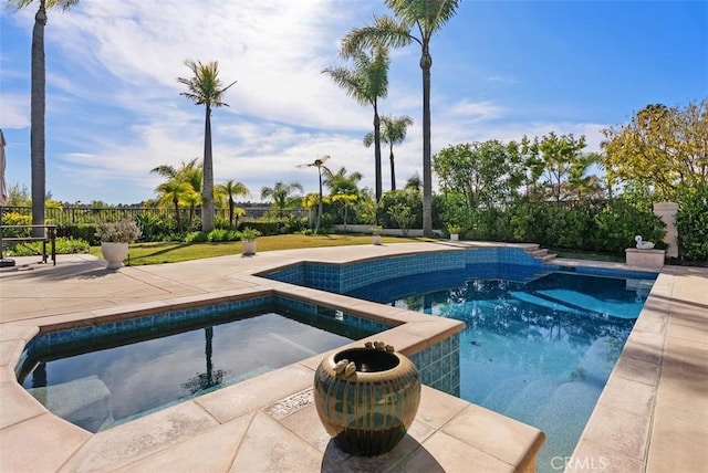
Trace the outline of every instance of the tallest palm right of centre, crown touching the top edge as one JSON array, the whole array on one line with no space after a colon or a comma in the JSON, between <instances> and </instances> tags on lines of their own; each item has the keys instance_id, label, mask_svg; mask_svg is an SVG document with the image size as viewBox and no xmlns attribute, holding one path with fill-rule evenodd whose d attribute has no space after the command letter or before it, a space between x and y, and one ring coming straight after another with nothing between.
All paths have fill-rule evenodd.
<instances>
[{"instance_id":1,"label":"tallest palm right of centre, crown touching the top edge","mask_svg":"<svg viewBox=\"0 0 708 473\"><path fill-rule=\"evenodd\" d=\"M341 54L357 54L362 48L385 44L402 48L420 45L423 71L423 233L433 236L433 167L430 156L430 39L457 11L460 0L386 0L395 18L375 17L374 25L355 28L342 40ZM418 33L418 35L416 35Z\"/></svg>"}]
</instances>

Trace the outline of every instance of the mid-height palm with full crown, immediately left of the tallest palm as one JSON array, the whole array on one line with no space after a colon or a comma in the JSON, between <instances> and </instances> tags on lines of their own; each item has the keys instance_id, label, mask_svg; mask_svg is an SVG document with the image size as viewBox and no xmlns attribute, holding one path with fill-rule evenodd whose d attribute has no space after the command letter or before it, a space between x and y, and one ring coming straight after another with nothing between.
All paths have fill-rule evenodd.
<instances>
[{"instance_id":1,"label":"mid-height palm with full crown, immediately left of the tallest palm","mask_svg":"<svg viewBox=\"0 0 708 473\"><path fill-rule=\"evenodd\" d=\"M374 107L374 166L376 167L376 201L378 201L382 196L378 99L388 95L388 64L391 64L391 60L388 59L388 50L381 44L371 46L371 55L360 49L353 51L348 57L354 61L354 69L327 67L322 72L329 74L336 85L361 105Z\"/></svg>"}]
</instances>

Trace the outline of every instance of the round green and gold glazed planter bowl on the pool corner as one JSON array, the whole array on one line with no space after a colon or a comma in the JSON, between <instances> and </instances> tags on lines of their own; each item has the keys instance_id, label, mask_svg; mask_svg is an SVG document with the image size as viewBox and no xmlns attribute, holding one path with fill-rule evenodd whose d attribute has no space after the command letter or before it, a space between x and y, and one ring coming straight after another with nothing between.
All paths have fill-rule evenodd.
<instances>
[{"instance_id":1,"label":"round green and gold glazed planter bowl on the pool corner","mask_svg":"<svg viewBox=\"0 0 708 473\"><path fill-rule=\"evenodd\" d=\"M314 403L340 449L379 455L410 428L420 403L420 377L392 346L367 343L322 360L314 375Z\"/></svg>"}]
</instances>

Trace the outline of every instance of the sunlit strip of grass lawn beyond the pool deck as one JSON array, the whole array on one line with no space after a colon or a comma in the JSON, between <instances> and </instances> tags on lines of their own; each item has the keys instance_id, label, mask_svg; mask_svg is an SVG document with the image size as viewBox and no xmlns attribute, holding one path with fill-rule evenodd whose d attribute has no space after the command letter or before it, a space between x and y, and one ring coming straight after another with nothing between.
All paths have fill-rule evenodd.
<instances>
[{"instance_id":1,"label":"sunlit strip of grass lawn beyond the pool deck","mask_svg":"<svg viewBox=\"0 0 708 473\"><path fill-rule=\"evenodd\" d=\"M429 241L421 238L383 236L383 243L405 243ZM293 250L298 248L345 246L353 244L371 244L371 235L330 234L303 235L285 234L259 236L256 240L258 251ZM131 244L129 264L176 263L178 261L200 260L204 257L227 256L241 254L243 245L240 241L219 243L184 243L184 242L153 242ZM103 257L101 246L92 246L91 254ZM126 264L128 262L126 261Z\"/></svg>"}]
</instances>

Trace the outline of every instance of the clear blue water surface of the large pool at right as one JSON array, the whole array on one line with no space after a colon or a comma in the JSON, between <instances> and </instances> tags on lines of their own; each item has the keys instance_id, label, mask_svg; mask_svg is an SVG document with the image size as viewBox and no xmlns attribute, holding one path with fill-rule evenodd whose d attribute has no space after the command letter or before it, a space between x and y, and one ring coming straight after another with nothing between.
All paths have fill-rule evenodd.
<instances>
[{"instance_id":1,"label":"clear blue water surface of the large pool at right","mask_svg":"<svg viewBox=\"0 0 708 473\"><path fill-rule=\"evenodd\" d=\"M537 466L553 471L553 458L572 454L653 281L494 273L444 291L371 297L465 322L460 397L545 432ZM409 287L419 284L409 278Z\"/></svg>"}]
</instances>

